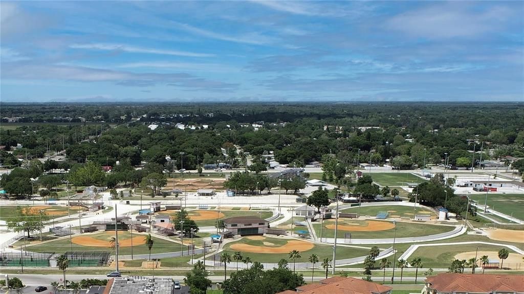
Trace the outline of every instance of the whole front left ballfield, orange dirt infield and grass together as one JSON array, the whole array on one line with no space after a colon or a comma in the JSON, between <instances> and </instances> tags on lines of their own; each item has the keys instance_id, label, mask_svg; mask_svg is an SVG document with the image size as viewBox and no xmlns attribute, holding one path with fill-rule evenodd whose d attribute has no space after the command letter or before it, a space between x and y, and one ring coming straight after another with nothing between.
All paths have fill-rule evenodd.
<instances>
[{"instance_id":1,"label":"whole front left ballfield, orange dirt infield and grass together","mask_svg":"<svg viewBox=\"0 0 524 294\"><path fill-rule=\"evenodd\" d=\"M32 252L56 252L63 253L66 251L113 251L111 249L110 239L114 236L113 232L96 232L84 233L82 235L73 236L73 243L70 238L65 237L60 240L50 241L43 244L27 246L28 251ZM133 233L133 254L147 254L149 250L144 244L145 234ZM86 239L89 238L89 239ZM131 254L130 232L118 232L118 243L121 244L118 253L122 255ZM141 245L136 244L140 242ZM151 253L176 252L180 251L180 244L170 242L167 240L153 237L154 245L151 248ZM84 245L81 245L84 244ZM124 246L122 246L124 244Z\"/></svg>"}]
</instances>

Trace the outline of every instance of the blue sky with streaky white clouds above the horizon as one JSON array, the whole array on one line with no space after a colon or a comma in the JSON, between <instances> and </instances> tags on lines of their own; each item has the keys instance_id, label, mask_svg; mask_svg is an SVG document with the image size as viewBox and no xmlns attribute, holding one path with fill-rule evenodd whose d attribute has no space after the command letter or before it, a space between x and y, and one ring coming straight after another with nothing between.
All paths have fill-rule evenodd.
<instances>
[{"instance_id":1,"label":"blue sky with streaky white clouds above the horizon","mask_svg":"<svg viewBox=\"0 0 524 294\"><path fill-rule=\"evenodd\" d=\"M6 2L2 101L524 101L524 2Z\"/></svg>"}]
</instances>

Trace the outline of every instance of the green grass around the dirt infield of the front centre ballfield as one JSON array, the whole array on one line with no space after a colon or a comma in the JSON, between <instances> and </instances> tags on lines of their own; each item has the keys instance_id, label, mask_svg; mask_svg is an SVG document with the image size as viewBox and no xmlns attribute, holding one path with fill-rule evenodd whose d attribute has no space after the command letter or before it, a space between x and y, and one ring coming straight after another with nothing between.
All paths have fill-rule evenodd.
<instances>
[{"instance_id":1,"label":"green grass around the dirt infield of the front centre ballfield","mask_svg":"<svg viewBox=\"0 0 524 294\"><path fill-rule=\"evenodd\" d=\"M265 240L249 240L246 238L243 238L242 240L227 243L224 245L224 252L229 253L231 256L235 253L234 250L231 250L230 246L233 244L238 243L244 243L248 245L254 245L254 246L264 246L267 247L268 245L265 245L263 242L270 242L275 245L272 246L281 246L285 245L287 242L290 241L290 239L277 239L277 238L266 238ZM305 242L305 241L304 241ZM289 251L291 251L290 249ZM319 256L319 261L322 262L322 259L325 257L332 258L333 257L333 246L332 245L318 245L315 244L314 247L308 251L303 251L300 253L301 258L300 260L297 259L296 262L307 262L308 257L312 254L316 254ZM352 258L352 257L358 257L358 256L364 256L369 254L369 250L363 249L363 248L354 248L354 247L344 247L344 246L338 246L336 249L336 256L337 259L343 259L343 258ZM290 268L293 267L292 261L289 260L289 253L251 253L251 252L242 252L242 255L249 256L252 261L258 261L262 263L278 263L280 259L284 258L287 259L289 262ZM220 256L216 256L217 260L219 260ZM235 265L235 262L231 263L232 266Z\"/></svg>"}]
</instances>

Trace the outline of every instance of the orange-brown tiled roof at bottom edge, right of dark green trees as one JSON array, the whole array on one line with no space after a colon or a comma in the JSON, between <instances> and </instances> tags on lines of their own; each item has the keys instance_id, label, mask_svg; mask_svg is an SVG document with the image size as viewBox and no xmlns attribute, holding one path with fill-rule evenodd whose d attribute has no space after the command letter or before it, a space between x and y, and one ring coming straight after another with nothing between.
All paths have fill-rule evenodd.
<instances>
[{"instance_id":1,"label":"orange-brown tiled roof at bottom edge, right of dark green trees","mask_svg":"<svg viewBox=\"0 0 524 294\"><path fill-rule=\"evenodd\" d=\"M391 294L391 287L358 278L332 277L277 294Z\"/></svg>"}]
</instances>

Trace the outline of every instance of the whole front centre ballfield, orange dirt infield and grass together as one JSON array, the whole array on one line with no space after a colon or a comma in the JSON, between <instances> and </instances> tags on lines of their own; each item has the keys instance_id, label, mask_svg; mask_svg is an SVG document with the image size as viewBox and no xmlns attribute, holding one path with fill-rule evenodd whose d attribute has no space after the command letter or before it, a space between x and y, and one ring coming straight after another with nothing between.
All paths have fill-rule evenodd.
<instances>
[{"instance_id":1,"label":"whole front centre ballfield, orange dirt infield and grass together","mask_svg":"<svg viewBox=\"0 0 524 294\"><path fill-rule=\"evenodd\" d=\"M252 240L248 238L242 238L239 241L227 243L224 245L224 252L227 252L233 256L235 251L242 252L242 255L249 256L252 261L265 262L265 263L278 263L280 259L285 258L289 261L289 252L291 250L300 251L301 258L297 259L296 262L307 262L308 257L311 254L316 254L319 256L319 260L322 261L323 258L333 257L333 248L331 245L318 245L313 244L307 241L301 241L298 239L284 239L284 238L269 238L264 237L262 240ZM289 243L289 242L296 242ZM302 244L305 243L305 244ZM243 246L240 246L243 245ZM288 246L285 248L284 252L281 252L283 249L279 247ZM257 248L258 247L258 248ZM275 253L270 253L271 250L277 251ZM261 250L266 250L267 253L260 253ZM257 251L257 253L252 252ZM344 247L338 246L336 248L337 259L351 258L364 256L369 254L369 250L363 248L354 248L354 247ZM216 256L219 258L219 256ZM231 265L234 265L232 262ZM292 261L289 261L289 265L292 268Z\"/></svg>"}]
</instances>

